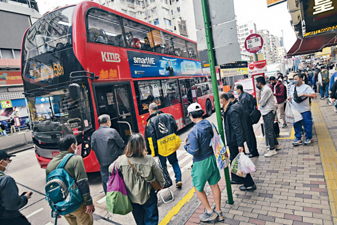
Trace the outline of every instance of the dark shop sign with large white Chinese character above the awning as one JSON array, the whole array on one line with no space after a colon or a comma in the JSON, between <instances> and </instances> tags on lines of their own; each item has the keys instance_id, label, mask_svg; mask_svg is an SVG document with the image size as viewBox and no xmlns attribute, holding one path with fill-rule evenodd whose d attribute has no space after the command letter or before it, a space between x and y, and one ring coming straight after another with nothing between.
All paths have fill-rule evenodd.
<instances>
[{"instance_id":1,"label":"dark shop sign with large white Chinese character above the awning","mask_svg":"<svg viewBox=\"0 0 337 225\"><path fill-rule=\"evenodd\" d=\"M336 30L336 0L300 0L304 37Z\"/></svg>"}]
</instances>

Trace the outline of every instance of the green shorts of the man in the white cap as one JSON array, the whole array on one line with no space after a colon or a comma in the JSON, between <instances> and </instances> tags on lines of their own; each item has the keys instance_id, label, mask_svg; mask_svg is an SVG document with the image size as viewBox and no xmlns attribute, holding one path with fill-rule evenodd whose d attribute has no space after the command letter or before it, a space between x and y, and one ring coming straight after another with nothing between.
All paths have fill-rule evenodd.
<instances>
[{"instance_id":1,"label":"green shorts of the man in the white cap","mask_svg":"<svg viewBox=\"0 0 337 225\"><path fill-rule=\"evenodd\" d=\"M204 190L206 181L208 181L209 185L217 184L221 176L215 156L211 156L199 162L194 162L191 175L193 186L197 191Z\"/></svg>"}]
</instances>

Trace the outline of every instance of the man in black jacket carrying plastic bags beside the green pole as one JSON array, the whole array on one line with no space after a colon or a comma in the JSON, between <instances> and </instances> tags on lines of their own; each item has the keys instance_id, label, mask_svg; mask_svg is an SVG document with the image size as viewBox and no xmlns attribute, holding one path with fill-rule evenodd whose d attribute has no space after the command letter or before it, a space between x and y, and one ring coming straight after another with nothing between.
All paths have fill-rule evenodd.
<instances>
[{"instance_id":1,"label":"man in black jacket carrying plastic bags beside the green pole","mask_svg":"<svg viewBox=\"0 0 337 225\"><path fill-rule=\"evenodd\" d=\"M235 99L232 93L227 95L225 92L221 92L220 99L224 101L224 105L226 105L226 101L229 101L225 109L224 120L226 144L230 153L229 160L232 162L239 153L244 152L244 130L246 126L246 119L241 104L237 99ZM231 173L230 183L243 184L239 187L241 191L251 191L256 189L256 185L250 173L248 173L246 177L241 177Z\"/></svg>"}]
</instances>

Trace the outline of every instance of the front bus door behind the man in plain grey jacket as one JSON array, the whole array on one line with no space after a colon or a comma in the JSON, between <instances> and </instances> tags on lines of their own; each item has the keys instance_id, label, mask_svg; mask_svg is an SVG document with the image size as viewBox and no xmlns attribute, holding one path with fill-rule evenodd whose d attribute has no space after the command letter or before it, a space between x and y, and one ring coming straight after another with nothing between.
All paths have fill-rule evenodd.
<instances>
[{"instance_id":1,"label":"front bus door behind the man in plain grey jacket","mask_svg":"<svg viewBox=\"0 0 337 225\"><path fill-rule=\"evenodd\" d=\"M95 93L98 116L110 115L111 127L118 131L126 144L129 136L138 132L134 125L130 84L97 85Z\"/></svg>"}]
</instances>

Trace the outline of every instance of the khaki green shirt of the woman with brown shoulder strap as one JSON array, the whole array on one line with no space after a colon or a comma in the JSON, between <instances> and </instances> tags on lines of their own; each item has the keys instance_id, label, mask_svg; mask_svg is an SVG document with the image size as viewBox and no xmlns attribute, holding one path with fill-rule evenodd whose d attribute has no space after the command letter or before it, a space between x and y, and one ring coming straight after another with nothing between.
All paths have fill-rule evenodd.
<instances>
[{"instance_id":1,"label":"khaki green shirt of the woman with brown shoulder strap","mask_svg":"<svg viewBox=\"0 0 337 225\"><path fill-rule=\"evenodd\" d=\"M127 195L132 203L143 205L150 198L152 185L149 182L157 180L161 186L165 185L163 170L157 165L152 156L129 157L132 166L146 179L140 177L129 165L125 155L118 158L116 167L122 174ZM109 167L112 173L114 162Z\"/></svg>"}]
</instances>

